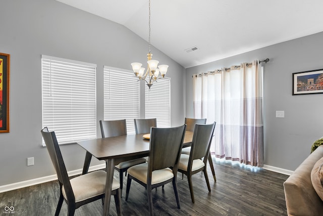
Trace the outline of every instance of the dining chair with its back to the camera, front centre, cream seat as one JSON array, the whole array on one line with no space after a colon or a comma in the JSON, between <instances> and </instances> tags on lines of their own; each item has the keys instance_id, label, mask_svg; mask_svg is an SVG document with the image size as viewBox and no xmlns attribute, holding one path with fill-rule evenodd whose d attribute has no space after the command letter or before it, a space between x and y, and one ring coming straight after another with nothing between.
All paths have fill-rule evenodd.
<instances>
[{"instance_id":1,"label":"dining chair with its back to the camera, front centre, cream seat","mask_svg":"<svg viewBox=\"0 0 323 216\"><path fill-rule=\"evenodd\" d=\"M151 190L170 182L173 183L177 207L181 208L177 189L177 169L185 127L185 124L168 128L151 127L148 163L135 165L128 169L126 201L131 181L134 180L147 190L150 215L153 215Z\"/></svg>"}]
</instances>

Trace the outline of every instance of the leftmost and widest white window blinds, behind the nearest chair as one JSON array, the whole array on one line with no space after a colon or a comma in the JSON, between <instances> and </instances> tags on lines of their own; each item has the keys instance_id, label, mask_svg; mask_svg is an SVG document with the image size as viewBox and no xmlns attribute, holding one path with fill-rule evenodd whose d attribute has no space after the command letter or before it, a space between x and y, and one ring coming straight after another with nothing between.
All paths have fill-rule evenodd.
<instances>
[{"instance_id":1,"label":"leftmost and widest white window blinds, behind the nearest chair","mask_svg":"<svg viewBox=\"0 0 323 216\"><path fill-rule=\"evenodd\" d=\"M41 56L42 125L60 144L96 138L96 65Z\"/></svg>"}]
</instances>

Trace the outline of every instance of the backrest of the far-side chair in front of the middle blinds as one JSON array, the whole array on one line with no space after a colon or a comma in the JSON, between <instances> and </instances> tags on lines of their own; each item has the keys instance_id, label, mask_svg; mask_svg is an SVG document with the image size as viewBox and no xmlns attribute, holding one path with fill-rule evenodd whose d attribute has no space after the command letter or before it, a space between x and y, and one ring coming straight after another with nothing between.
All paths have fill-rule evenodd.
<instances>
[{"instance_id":1,"label":"backrest of the far-side chair in front of the middle blinds","mask_svg":"<svg viewBox=\"0 0 323 216\"><path fill-rule=\"evenodd\" d=\"M127 122L126 119L110 121L100 120L100 129L102 138L127 135Z\"/></svg>"}]
</instances>

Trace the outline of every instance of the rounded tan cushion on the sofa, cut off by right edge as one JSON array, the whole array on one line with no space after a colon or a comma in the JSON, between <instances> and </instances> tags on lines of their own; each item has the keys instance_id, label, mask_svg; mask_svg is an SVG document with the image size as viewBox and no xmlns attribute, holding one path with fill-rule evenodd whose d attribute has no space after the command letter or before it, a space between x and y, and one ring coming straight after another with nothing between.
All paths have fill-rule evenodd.
<instances>
[{"instance_id":1,"label":"rounded tan cushion on the sofa, cut off by right edge","mask_svg":"<svg viewBox=\"0 0 323 216\"><path fill-rule=\"evenodd\" d=\"M323 157L317 160L312 168L311 182L317 195L323 200Z\"/></svg>"}]
</instances>

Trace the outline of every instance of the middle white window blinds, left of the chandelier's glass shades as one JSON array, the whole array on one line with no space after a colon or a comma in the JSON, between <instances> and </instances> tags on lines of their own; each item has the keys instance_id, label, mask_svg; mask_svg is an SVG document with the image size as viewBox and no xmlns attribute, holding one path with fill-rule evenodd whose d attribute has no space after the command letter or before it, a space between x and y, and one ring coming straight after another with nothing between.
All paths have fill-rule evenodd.
<instances>
[{"instance_id":1,"label":"middle white window blinds, left of the chandelier's glass shades","mask_svg":"<svg viewBox=\"0 0 323 216\"><path fill-rule=\"evenodd\" d=\"M104 120L126 119L127 134L135 134L139 118L139 81L132 71L104 66Z\"/></svg>"}]
</instances>

